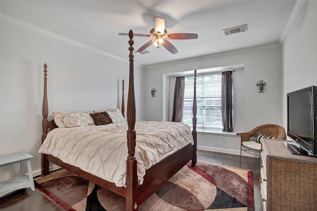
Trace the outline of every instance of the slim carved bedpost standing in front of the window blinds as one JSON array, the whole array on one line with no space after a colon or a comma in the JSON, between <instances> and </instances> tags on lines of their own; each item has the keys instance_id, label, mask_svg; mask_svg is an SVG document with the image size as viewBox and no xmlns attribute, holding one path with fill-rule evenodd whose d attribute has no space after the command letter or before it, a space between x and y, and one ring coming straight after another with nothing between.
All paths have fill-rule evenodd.
<instances>
[{"instance_id":1,"label":"slim carved bedpost standing in front of the window blinds","mask_svg":"<svg viewBox=\"0 0 317 211\"><path fill-rule=\"evenodd\" d=\"M192 158L192 166L196 166L197 164L197 101L196 101L196 73L197 70L194 71L194 99L193 99L193 138L194 138L194 145L193 145L193 158Z\"/></svg>"}]
</instances>

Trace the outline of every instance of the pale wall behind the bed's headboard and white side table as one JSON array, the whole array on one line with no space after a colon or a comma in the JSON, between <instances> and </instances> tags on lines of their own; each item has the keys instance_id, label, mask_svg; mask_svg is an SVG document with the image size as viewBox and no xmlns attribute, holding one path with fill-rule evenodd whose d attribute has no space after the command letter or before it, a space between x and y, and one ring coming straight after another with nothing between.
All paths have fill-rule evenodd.
<instances>
[{"instance_id":1,"label":"pale wall behind the bed's headboard and white side table","mask_svg":"<svg viewBox=\"0 0 317 211\"><path fill-rule=\"evenodd\" d=\"M60 41L49 32L1 21L0 155L25 151L35 175L41 172L38 149L42 136L44 63L48 64L49 118L52 111L121 108L122 79L128 83L126 60ZM38 29L41 30L41 29ZM44 33L44 35L43 35ZM45 34L46 33L46 34ZM129 45L127 44L126 48ZM137 119L142 119L142 70L135 65ZM127 99L127 87L125 98ZM125 100L125 104L127 100ZM1 168L0 180L19 173Z\"/></svg>"}]
</instances>

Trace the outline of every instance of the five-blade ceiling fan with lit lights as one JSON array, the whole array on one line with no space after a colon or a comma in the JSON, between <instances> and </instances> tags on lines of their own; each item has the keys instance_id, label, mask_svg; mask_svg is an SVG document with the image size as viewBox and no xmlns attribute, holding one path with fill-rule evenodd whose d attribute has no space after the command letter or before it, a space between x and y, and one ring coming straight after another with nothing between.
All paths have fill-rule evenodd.
<instances>
[{"instance_id":1,"label":"five-blade ceiling fan with lit lights","mask_svg":"<svg viewBox=\"0 0 317 211\"><path fill-rule=\"evenodd\" d=\"M129 34L119 33L119 35L129 35ZM160 44L163 45L172 54L178 53L178 50L168 40L189 40L189 39L198 38L197 34L189 34L189 33L167 34L167 31L165 29L165 20L159 17L155 17L154 28L151 29L150 35L134 34L134 36L153 38L149 42L146 42L144 45L142 45L136 52L145 50L147 47L149 47L153 43L157 48L159 48Z\"/></svg>"}]
</instances>

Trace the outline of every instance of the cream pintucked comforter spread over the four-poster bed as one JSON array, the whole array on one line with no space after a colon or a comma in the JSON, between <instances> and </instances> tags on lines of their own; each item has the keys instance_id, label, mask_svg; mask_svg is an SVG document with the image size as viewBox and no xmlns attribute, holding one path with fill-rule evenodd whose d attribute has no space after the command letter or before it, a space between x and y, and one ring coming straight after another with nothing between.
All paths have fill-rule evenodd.
<instances>
[{"instance_id":1,"label":"cream pintucked comforter spread over the four-poster bed","mask_svg":"<svg viewBox=\"0 0 317 211\"><path fill-rule=\"evenodd\" d=\"M122 187L128 156L127 129L126 122L55 128L48 133L39 153L53 155ZM194 144L190 127L183 123L137 121L135 130L140 184L146 169L189 143Z\"/></svg>"}]
</instances>

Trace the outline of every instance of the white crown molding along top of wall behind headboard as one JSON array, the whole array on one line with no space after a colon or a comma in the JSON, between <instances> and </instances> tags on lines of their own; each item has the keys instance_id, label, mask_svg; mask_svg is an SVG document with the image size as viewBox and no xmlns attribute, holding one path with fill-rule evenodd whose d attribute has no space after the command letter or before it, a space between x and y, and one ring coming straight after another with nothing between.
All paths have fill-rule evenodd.
<instances>
[{"instance_id":1,"label":"white crown molding along top of wall behind headboard","mask_svg":"<svg viewBox=\"0 0 317 211\"><path fill-rule=\"evenodd\" d=\"M38 34L53 38L55 40L58 40L58 41L61 41L61 42L65 42L65 43L74 45L76 47L80 47L80 48L83 48L85 50L89 50L89 51L92 51L94 53L98 53L100 55L103 55L103 56L106 56L106 57L109 57L109 58L112 58L112 59L115 59L115 60L118 60L118 61L121 61L121 62L124 62L124 63L127 63L127 64L129 63L128 59L121 58L119 56L116 56L116 55L113 55L111 53L108 53L108 52L106 52L106 51L104 51L102 49L99 49L99 48L84 44L82 42L78 42L78 41L72 40L70 38L64 37L62 35L56 34L56 33L51 32L49 30L46 30L46 29L40 28L38 26L32 25L30 23L18 20L16 18L10 17L8 15L4 15L2 13L0 13L0 20L4 21L4 22L7 22L9 24L12 24L12 25L15 25L15 26L30 30L32 32L35 32L35 33L38 33ZM138 67L142 67L140 64L137 64L135 62L134 62L134 64L137 65Z\"/></svg>"}]
</instances>

